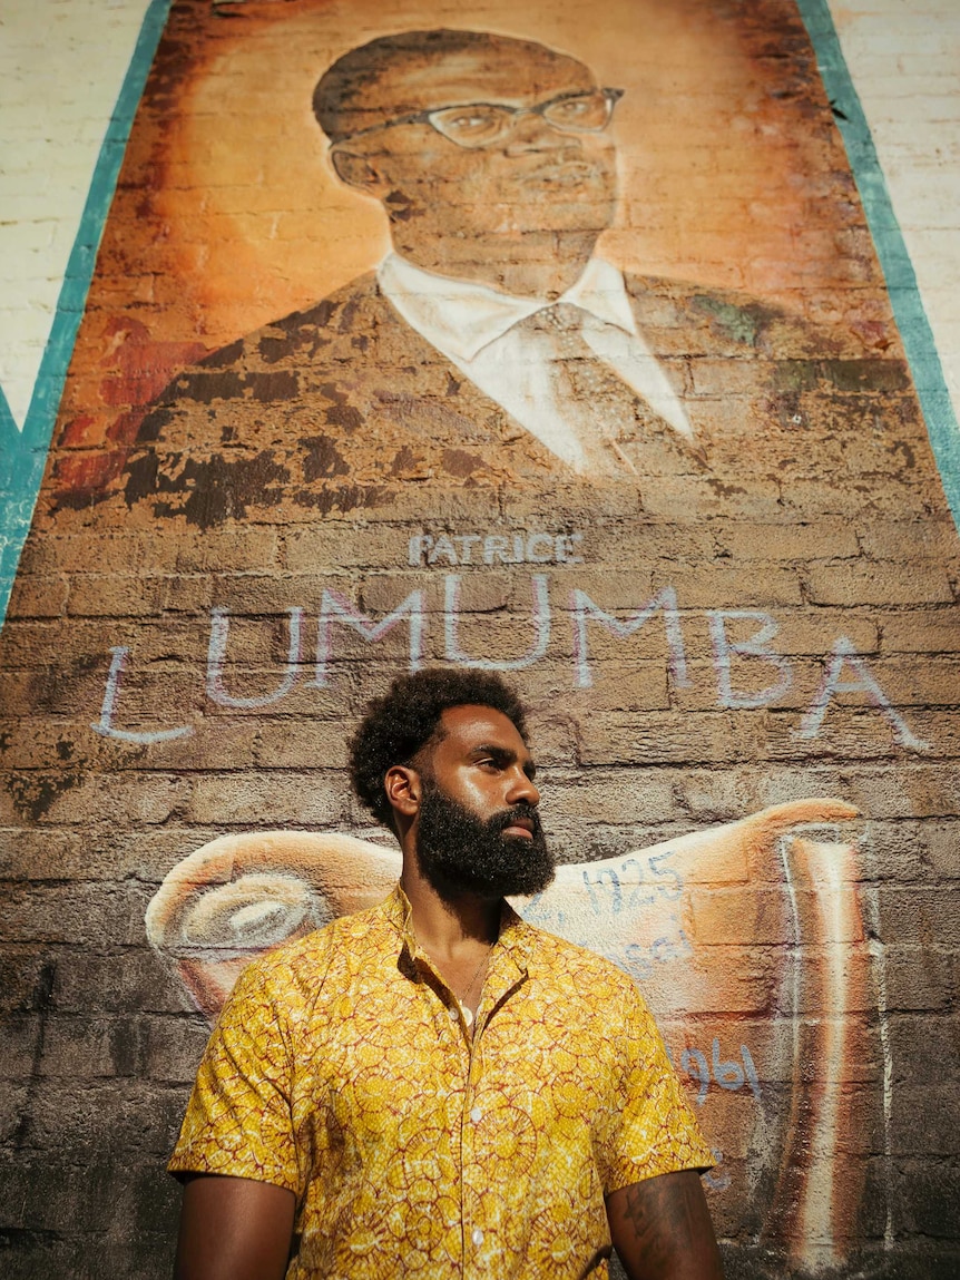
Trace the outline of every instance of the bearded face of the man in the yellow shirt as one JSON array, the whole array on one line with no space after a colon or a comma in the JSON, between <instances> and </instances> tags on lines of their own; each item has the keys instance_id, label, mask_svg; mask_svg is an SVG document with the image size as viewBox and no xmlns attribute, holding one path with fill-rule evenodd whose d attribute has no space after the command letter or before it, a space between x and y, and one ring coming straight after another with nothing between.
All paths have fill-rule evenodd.
<instances>
[{"instance_id":1,"label":"bearded face of the man in the yellow shirt","mask_svg":"<svg viewBox=\"0 0 960 1280\"><path fill-rule=\"evenodd\" d=\"M536 812L539 791L526 744L500 712L454 707L420 768L416 851L420 870L443 896L536 893L554 859Z\"/></svg>"}]
</instances>

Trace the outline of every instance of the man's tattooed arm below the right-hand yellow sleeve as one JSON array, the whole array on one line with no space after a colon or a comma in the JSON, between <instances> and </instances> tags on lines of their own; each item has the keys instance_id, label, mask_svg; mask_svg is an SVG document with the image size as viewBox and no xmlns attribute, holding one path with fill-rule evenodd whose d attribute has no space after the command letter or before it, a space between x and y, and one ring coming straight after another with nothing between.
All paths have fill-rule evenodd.
<instances>
[{"instance_id":1,"label":"man's tattooed arm below the right-hand yellow sleeve","mask_svg":"<svg viewBox=\"0 0 960 1280\"><path fill-rule=\"evenodd\" d=\"M611 1238L630 1280L723 1280L699 1174L631 1183L607 1197Z\"/></svg>"}]
</instances>

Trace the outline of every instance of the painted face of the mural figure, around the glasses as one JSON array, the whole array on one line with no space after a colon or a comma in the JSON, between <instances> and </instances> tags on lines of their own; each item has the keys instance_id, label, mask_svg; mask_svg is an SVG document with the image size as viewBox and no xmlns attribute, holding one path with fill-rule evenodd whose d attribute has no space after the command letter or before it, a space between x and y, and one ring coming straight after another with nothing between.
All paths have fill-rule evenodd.
<instances>
[{"instance_id":1,"label":"painted face of the mural figure, around the glasses","mask_svg":"<svg viewBox=\"0 0 960 1280\"><path fill-rule=\"evenodd\" d=\"M596 88L582 63L540 45L492 44L468 52L407 60L372 84L361 127L416 111L476 102L532 108ZM370 193L390 214L394 238L476 239L585 232L609 227L616 156L609 132L563 133L524 115L504 138L466 148L429 123L401 124L347 140L337 150L362 155ZM339 165L342 175L347 165ZM355 177L362 170L353 166ZM348 179L351 180L351 179ZM355 180L355 186L362 183ZM462 247L462 246L461 246Z\"/></svg>"}]
</instances>

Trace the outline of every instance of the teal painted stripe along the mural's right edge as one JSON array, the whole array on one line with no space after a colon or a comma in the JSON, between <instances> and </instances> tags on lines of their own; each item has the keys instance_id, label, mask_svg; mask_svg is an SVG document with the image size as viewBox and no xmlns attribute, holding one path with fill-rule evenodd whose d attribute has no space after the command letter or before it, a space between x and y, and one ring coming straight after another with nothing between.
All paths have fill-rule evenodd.
<instances>
[{"instance_id":1,"label":"teal painted stripe along the mural's right edge","mask_svg":"<svg viewBox=\"0 0 960 1280\"><path fill-rule=\"evenodd\" d=\"M887 183L877 157L860 99L850 78L827 0L796 0L817 54L817 65L860 192L867 223L877 248L893 316L916 384L927 433L937 460L954 524L960 530L960 429L943 378L920 291L900 224L893 215Z\"/></svg>"}]
</instances>

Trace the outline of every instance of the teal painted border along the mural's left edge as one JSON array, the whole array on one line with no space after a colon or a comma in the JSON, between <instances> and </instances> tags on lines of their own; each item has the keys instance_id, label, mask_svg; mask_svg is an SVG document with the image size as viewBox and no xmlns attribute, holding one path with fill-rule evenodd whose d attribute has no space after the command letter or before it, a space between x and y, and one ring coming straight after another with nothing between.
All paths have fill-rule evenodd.
<instances>
[{"instance_id":1,"label":"teal painted border along the mural's left edge","mask_svg":"<svg viewBox=\"0 0 960 1280\"><path fill-rule=\"evenodd\" d=\"M0 626L6 616L17 564L29 532L33 507L44 479L67 367L87 302L100 238L116 189L120 163L172 3L173 0L150 0L150 8L143 15L133 56L93 168L87 202L67 264L60 297L56 301L56 315L40 362L23 431L17 429L10 406L0 388Z\"/></svg>"}]
</instances>

